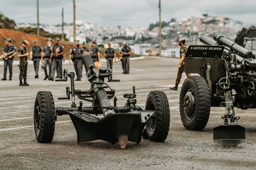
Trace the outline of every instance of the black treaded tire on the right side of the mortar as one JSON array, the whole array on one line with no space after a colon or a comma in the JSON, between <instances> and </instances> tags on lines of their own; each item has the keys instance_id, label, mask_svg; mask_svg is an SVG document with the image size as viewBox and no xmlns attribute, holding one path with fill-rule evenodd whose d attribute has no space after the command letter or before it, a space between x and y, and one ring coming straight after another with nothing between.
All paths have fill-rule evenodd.
<instances>
[{"instance_id":1,"label":"black treaded tire on the right side of the mortar","mask_svg":"<svg viewBox=\"0 0 256 170\"><path fill-rule=\"evenodd\" d=\"M163 142L166 140L170 127L170 107L167 96L162 91L152 91L149 93L146 101L146 110L155 111L154 129L150 128L150 119L146 122L148 137L154 142Z\"/></svg>"}]
</instances>

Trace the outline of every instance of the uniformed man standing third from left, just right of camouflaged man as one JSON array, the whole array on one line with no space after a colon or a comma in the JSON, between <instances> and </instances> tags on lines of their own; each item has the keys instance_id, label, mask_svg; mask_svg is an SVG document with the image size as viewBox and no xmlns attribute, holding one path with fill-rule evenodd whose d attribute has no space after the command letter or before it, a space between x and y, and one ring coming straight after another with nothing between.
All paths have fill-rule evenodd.
<instances>
[{"instance_id":1,"label":"uniformed man standing third from left, just right of camouflaged man","mask_svg":"<svg viewBox=\"0 0 256 170\"><path fill-rule=\"evenodd\" d=\"M42 47L37 44L37 40L34 40L34 45L31 47L30 59L34 62L35 78L38 78L38 70L40 59L42 58Z\"/></svg>"}]
</instances>

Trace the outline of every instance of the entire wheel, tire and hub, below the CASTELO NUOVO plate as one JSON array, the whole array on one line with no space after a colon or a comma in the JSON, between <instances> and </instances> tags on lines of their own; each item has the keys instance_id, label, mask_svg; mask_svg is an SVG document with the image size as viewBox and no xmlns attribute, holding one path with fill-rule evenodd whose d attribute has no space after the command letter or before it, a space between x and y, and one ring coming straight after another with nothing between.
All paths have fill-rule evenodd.
<instances>
[{"instance_id":1,"label":"entire wheel, tire and hub, below the CASTELO NUOVO plate","mask_svg":"<svg viewBox=\"0 0 256 170\"><path fill-rule=\"evenodd\" d=\"M207 125L211 111L210 89L201 76L185 79L180 93L180 116L187 130L201 131Z\"/></svg>"}]
</instances>

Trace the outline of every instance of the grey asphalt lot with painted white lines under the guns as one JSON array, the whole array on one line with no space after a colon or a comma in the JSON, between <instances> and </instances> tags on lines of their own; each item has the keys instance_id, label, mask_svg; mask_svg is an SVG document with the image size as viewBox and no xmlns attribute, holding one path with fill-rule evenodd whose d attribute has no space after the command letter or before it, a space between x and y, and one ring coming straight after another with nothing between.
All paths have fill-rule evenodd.
<instances>
[{"instance_id":1,"label":"grey asphalt lot with painted white lines under the guns","mask_svg":"<svg viewBox=\"0 0 256 170\"><path fill-rule=\"evenodd\" d=\"M58 116L52 143L40 144L35 137L33 108L38 91L51 91L55 106L70 106L71 100L57 100L66 96L70 81L43 80L44 73L34 79L33 65L28 65L27 83L19 86L19 68L13 66L12 81L0 81L0 169L256 169L256 111L235 109L238 124L246 128L246 142L225 147L213 142L213 128L222 125L224 108L211 108L210 119L203 131L187 131L181 122L179 93L172 91L179 59L146 57L130 61L130 74L122 74L121 63L113 65L113 79L109 83L116 90L117 104L124 105L123 94L132 93L136 86L137 104L145 106L150 91L164 91L170 105L170 130L166 141L157 143L142 139L139 144L119 144L91 141L77 144L75 128L68 115ZM69 72L72 64L65 64ZM84 69L85 71L85 69ZM3 66L0 66L0 75ZM8 75L7 75L8 76ZM88 90L90 84L83 72L76 89ZM76 97L78 103L79 99ZM113 100L111 100L113 102ZM84 102L83 106L90 106Z\"/></svg>"}]
</instances>

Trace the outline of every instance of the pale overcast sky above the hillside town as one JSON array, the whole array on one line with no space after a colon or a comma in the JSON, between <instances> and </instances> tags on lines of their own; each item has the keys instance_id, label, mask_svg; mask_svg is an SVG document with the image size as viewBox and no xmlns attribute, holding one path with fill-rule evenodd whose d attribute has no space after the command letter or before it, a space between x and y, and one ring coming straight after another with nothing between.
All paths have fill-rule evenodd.
<instances>
[{"instance_id":1,"label":"pale overcast sky above the hillside town","mask_svg":"<svg viewBox=\"0 0 256 170\"><path fill-rule=\"evenodd\" d=\"M76 0L76 20L106 26L148 27L159 21L158 0ZM44 24L73 22L72 0L39 0L39 21ZM162 21L200 17L207 10L211 16L227 16L243 23L256 24L256 0L161 0ZM84 11L84 10L86 11ZM36 0L2 1L0 12L16 23L37 22ZM103 18L103 17L105 18Z\"/></svg>"}]
</instances>

